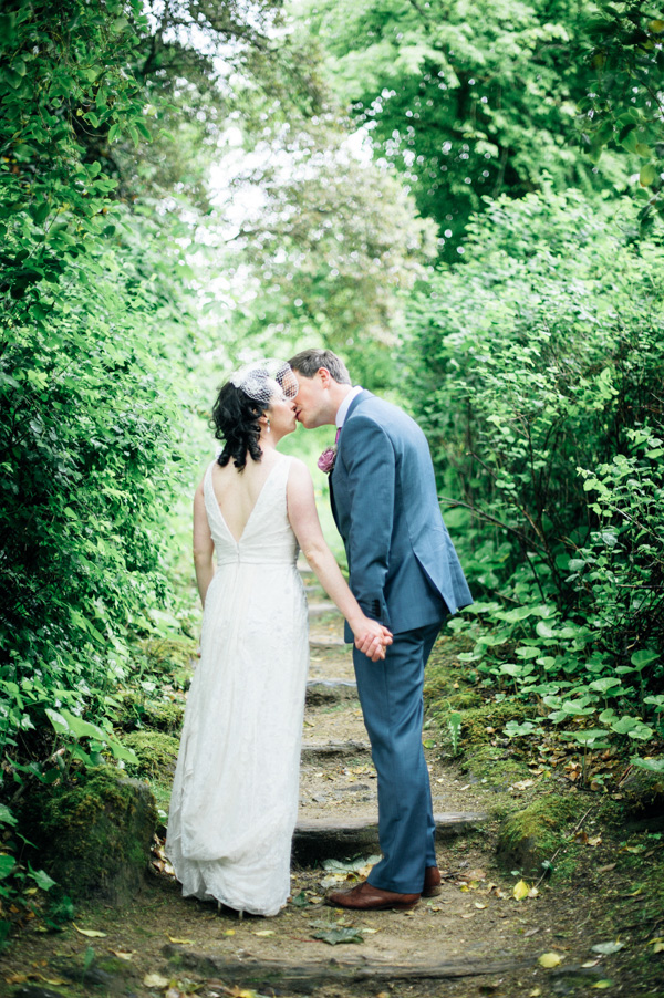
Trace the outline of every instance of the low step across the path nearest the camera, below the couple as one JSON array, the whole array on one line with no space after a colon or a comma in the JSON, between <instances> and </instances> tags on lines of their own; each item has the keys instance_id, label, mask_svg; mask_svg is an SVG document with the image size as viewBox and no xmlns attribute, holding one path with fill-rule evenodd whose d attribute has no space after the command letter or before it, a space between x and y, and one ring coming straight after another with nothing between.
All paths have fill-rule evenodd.
<instances>
[{"instance_id":1,"label":"low step across the path nearest the camera, below the couple","mask_svg":"<svg viewBox=\"0 0 664 998\"><path fill-rule=\"evenodd\" d=\"M505 954L502 959L487 959L486 957L457 957L455 959L432 960L427 963L393 963L388 960L367 963L366 957L325 957L312 960L311 958L298 960L284 959L257 959L250 956L237 961L228 958L225 948L215 949L214 945L206 947L205 952L193 949L189 946L167 943L162 953L172 960L178 969L186 968L197 970L209 977L214 975L220 978L220 983L238 985L242 989L256 988L264 994L300 994L311 995L314 990L325 985L334 986L334 994L350 994L346 989L353 987L353 994L360 989L364 994L374 994L381 985L392 987L392 983L401 980L408 983L408 990L413 984L425 980L455 980L463 977L481 977L486 975L506 974L508 970L528 968L536 965L536 955L527 957L513 957ZM369 991L362 986L369 984ZM278 987L279 990L274 991ZM490 988L490 990L495 990ZM230 991L229 991L230 992ZM432 992L433 994L433 992Z\"/></svg>"}]
</instances>

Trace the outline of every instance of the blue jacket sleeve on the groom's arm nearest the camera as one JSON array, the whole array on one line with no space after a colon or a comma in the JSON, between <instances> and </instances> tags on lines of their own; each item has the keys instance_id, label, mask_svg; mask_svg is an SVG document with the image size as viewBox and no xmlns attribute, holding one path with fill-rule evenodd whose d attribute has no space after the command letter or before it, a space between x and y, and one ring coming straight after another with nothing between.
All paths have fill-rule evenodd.
<instances>
[{"instance_id":1,"label":"blue jacket sleeve on the groom's arm nearest the camera","mask_svg":"<svg viewBox=\"0 0 664 998\"><path fill-rule=\"evenodd\" d=\"M396 459L381 425L356 415L343 429L350 496L350 585L366 616L390 626L385 579L394 523Z\"/></svg>"}]
</instances>

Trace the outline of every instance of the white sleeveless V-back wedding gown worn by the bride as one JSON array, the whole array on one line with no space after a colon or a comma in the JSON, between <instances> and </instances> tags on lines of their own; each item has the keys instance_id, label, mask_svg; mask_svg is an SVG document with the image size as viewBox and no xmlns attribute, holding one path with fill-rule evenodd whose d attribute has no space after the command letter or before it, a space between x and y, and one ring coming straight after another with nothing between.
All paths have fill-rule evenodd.
<instances>
[{"instance_id":1,"label":"white sleeveless V-back wedding gown worn by the bride","mask_svg":"<svg viewBox=\"0 0 664 998\"><path fill-rule=\"evenodd\" d=\"M187 699L166 852L183 894L276 915L290 892L309 664L307 601L287 517L290 458L271 469L242 537L212 488L217 571Z\"/></svg>"}]
</instances>

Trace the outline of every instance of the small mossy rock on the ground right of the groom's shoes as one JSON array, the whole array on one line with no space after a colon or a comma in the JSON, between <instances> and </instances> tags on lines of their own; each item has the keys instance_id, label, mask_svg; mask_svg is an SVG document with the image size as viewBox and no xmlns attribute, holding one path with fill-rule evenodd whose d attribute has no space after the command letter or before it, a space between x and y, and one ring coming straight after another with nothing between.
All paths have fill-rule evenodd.
<instances>
[{"instance_id":1,"label":"small mossy rock on the ground right of the groom's shoes","mask_svg":"<svg viewBox=\"0 0 664 998\"><path fill-rule=\"evenodd\" d=\"M496 846L498 859L526 875L541 873L542 863L569 841L585 807L577 794L539 797L504 820Z\"/></svg>"}]
</instances>

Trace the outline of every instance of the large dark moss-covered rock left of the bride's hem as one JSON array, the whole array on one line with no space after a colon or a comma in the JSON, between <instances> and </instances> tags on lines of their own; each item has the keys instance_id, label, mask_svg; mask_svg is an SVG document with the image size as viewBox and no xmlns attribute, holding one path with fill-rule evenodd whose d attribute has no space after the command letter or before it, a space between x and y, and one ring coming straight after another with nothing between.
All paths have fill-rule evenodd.
<instances>
[{"instance_id":1,"label":"large dark moss-covered rock left of the bride's hem","mask_svg":"<svg viewBox=\"0 0 664 998\"><path fill-rule=\"evenodd\" d=\"M25 836L40 851L40 864L66 894L116 904L141 890L156 822L147 784L112 767L40 788L21 820Z\"/></svg>"}]
</instances>

